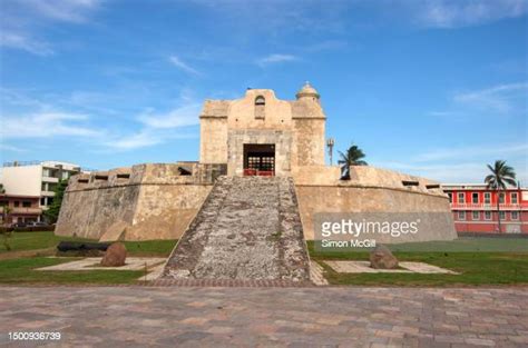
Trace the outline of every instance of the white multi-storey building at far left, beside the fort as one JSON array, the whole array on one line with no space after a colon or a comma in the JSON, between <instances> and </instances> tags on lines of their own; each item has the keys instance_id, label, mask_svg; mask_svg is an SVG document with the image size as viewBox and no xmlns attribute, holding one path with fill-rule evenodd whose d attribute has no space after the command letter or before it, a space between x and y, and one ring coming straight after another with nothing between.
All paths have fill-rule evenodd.
<instances>
[{"instance_id":1,"label":"white multi-storey building at far left, beside the fort","mask_svg":"<svg viewBox=\"0 0 528 348\"><path fill-rule=\"evenodd\" d=\"M40 197L40 207L48 209L60 179L81 171L78 165L58 161L6 162L0 168L0 182L6 195Z\"/></svg>"}]
</instances>

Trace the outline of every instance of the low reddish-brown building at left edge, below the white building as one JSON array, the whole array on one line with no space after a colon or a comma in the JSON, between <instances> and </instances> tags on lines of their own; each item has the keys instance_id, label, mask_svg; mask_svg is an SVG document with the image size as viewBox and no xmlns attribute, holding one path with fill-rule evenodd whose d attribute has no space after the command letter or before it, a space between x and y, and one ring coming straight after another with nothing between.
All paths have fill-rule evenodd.
<instances>
[{"instance_id":1,"label":"low reddish-brown building at left edge, below the white building","mask_svg":"<svg viewBox=\"0 0 528 348\"><path fill-rule=\"evenodd\" d=\"M41 215L40 196L0 193L0 225L40 221Z\"/></svg>"}]
</instances>

